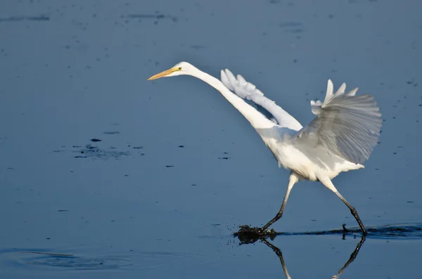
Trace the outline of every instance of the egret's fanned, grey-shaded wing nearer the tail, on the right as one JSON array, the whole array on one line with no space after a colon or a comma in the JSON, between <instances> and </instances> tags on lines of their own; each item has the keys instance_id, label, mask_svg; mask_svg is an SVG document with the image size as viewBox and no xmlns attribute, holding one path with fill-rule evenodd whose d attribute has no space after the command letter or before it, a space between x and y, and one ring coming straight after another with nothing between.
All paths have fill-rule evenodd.
<instances>
[{"instance_id":1,"label":"egret's fanned, grey-shaded wing nearer the tail, on the right","mask_svg":"<svg viewBox=\"0 0 422 279\"><path fill-rule=\"evenodd\" d=\"M316 115L299 131L296 140L302 144L324 145L329 153L362 164L368 160L381 131L381 113L373 96L355 96L357 88L345 93L346 84L333 94L328 79L324 103L311 101Z\"/></svg>"}]
</instances>

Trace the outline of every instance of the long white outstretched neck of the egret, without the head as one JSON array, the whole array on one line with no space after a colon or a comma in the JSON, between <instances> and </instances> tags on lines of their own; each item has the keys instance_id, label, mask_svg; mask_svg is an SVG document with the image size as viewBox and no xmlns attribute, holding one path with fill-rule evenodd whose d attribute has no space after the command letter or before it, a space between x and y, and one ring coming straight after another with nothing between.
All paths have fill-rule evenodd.
<instances>
[{"instance_id":1,"label":"long white outstretched neck of the egret, without the head","mask_svg":"<svg viewBox=\"0 0 422 279\"><path fill-rule=\"evenodd\" d=\"M242 98L227 89L227 87L224 86L224 84L222 84L219 79L216 79L210 74L202 72L198 69L196 69L196 71L192 71L190 75L203 80L203 82L210 84L210 86L214 87L220 93L222 93L222 96L224 96L224 98L226 98L231 103L231 105L236 108L236 110L241 112L241 114L246 119L248 119L250 124L252 124L255 129L269 129L275 126L274 122L271 122L271 120L267 119L267 117L264 117L261 112L257 111L251 105L246 103Z\"/></svg>"}]
</instances>

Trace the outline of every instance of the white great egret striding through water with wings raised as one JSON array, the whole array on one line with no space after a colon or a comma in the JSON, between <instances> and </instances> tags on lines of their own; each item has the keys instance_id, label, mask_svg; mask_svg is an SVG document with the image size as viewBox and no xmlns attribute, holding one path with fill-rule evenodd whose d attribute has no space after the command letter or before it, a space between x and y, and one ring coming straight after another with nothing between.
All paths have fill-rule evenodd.
<instances>
[{"instance_id":1,"label":"white great egret striding through water with wings raised","mask_svg":"<svg viewBox=\"0 0 422 279\"><path fill-rule=\"evenodd\" d=\"M316 117L307 126L302 125L269 100L255 85L246 82L239 74L234 77L229 70L221 71L221 82L193 65L181 62L174 67L155 74L151 79L191 75L217 89L231 105L248 119L271 150L279 167L290 170L286 195L279 213L257 232L264 234L272 223L283 215L290 191L302 179L320 181L326 188L340 197L359 223L362 233L366 229L356 209L335 188L331 179L342 171L360 169L368 160L378 141L381 130L381 113L373 96L355 96L357 88L345 93L342 84L333 93L333 82L328 79L324 103L311 101L312 112ZM274 119L265 117L245 100L250 100L267 110Z\"/></svg>"}]
</instances>

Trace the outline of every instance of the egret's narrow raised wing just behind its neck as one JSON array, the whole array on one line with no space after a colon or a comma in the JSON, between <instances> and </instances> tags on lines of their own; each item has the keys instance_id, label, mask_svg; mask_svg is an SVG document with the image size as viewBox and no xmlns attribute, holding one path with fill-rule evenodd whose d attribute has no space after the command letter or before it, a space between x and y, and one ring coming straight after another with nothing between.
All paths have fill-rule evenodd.
<instances>
[{"instance_id":1,"label":"egret's narrow raised wing just behind its neck","mask_svg":"<svg viewBox=\"0 0 422 279\"><path fill-rule=\"evenodd\" d=\"M280 126L299 131L302 129L302 125L294 117L288 114L286 110L280 108L274 100L264 96L259 89L256 88L254 84L246 82L246 80L240 75L237 75L237 78L234 77L229 70L222 70L222 83L229 90L234 91L237 96L250 100L256 105L260 105L262 108L267 110L274 119L278 122Z\"/></svg>"}]
</instances>

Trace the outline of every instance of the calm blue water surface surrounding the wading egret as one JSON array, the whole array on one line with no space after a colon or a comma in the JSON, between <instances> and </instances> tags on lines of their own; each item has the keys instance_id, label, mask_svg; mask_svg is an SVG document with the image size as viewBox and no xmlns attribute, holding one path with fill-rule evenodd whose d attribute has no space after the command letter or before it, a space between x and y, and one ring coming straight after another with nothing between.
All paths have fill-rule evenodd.
<instances>
[{"instance_id":1,"label":"calm blue water surface surrounding the wading egret","mask_svg":"<svg viewBox=\"0 0 422 279\"><path fill-rule=\"evenodd\" d=\"M0 278L420 278L421 8L2 1ZM239 245L238 226L279 209L288 171L207 84L146 81L181 60L243 74L302 124L327 79L376 97L381 143L333 181L375 228L363 244L295 234L357 226L333 193L300 182L273 226L290 234L268 240L283 257Z\"/></svg>"}]
</instances>

